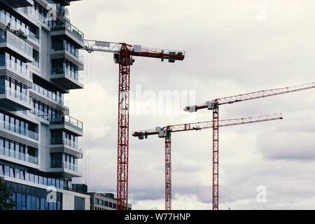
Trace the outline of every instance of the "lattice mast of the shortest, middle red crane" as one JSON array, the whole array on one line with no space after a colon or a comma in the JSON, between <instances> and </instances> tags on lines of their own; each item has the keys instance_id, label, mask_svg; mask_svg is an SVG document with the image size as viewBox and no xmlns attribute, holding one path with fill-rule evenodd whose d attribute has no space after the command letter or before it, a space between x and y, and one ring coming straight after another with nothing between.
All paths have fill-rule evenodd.
<instances>
[{"instance_id":1,"label":"lattice mast of the shortest, middle red crane","mask_svg":"<svg viewBox=\"0 0 315 224\"><path fill-rule=\"evenodd\" d=\"M165 210L172 210L171 135L165 137Z\"/></svg>"}]
</instances>

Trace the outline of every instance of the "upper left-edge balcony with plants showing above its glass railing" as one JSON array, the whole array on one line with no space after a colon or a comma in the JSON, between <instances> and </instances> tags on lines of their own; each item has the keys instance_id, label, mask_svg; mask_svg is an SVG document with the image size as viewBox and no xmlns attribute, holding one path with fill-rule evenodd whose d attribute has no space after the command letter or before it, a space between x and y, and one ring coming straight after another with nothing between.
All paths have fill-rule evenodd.
<instances>
[{"instance_id":1,"label":"upper left-edge balcony with plants showing above its glass railing","mask_svg":"<svg viewBox=\"0 0 315 224\"><path fill-rule=\"evenodd\" d=\"M33 47L10 31L0 30L0 48L8 48L11 52L18 53L25 62L33 62Z\"/></svg>"}]
</instances>

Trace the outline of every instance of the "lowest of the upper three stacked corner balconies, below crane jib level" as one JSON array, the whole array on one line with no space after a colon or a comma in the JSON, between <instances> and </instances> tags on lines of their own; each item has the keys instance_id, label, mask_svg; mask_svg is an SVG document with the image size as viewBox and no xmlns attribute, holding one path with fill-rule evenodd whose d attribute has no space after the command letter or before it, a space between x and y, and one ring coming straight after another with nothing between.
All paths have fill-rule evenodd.
<instances>
[{"instance_id":1,"label":"lowest of the upper three stacked corner balconies, below crane jib level","mask_svg":"<svg viewBox=\"0 0 315 224\"><path fill-rule=\"evenodd\" d=\"M63 67L52 68L50 80L62 87L64 90L83 89L83 78L78 71L70 71Z\"/></svg>"}]
</instances>

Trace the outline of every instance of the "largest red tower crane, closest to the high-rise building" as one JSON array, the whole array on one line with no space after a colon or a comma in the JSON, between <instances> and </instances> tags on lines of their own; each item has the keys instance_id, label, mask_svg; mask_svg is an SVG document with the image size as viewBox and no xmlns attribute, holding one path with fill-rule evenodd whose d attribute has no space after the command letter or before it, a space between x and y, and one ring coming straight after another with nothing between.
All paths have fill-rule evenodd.
<instances>
[{"instance_id":1,"label":"largest red tower crane, closest to the high-rise building","mask_svg":"<svg viewBox=\"0 0 315 224\"><path fill-rule=\"evenodd\" d=\"M180 50L160 50L142 48L141 45L113 43L105 41L84 41L87 52L112 52L114 62L119 64L118 94L118 166L117 166L117 210L127 210L128 204L128 156L129 156L129 97L130 66L134 63L132 56L168 59L174 63L182 61L185 52Z\"/></svg>"}]
</instances>

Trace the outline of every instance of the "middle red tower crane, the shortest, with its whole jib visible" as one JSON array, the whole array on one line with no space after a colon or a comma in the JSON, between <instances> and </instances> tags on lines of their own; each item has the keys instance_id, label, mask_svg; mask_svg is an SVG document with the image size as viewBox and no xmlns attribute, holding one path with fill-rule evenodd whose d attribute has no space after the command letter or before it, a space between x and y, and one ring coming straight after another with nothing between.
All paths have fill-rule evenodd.
<instances>
[{"instance_id":1,"label":"middle red tower crane, the shortest, with its whole jib visible","mask_svg":"<svg viewBox=\"0 0 315 224\"><path fill-rule=\"evenodd\" d=\"M268 120L283 119L281 113L257 116L250 118L238 118L228 120L218 120L218 127L245 125L249 123L258 123ZM142 130L132 132L132 136L139 139L148 138L148 135L158 134L159 138L165 138L165 210L172 210L172 160L171 160L171 135L172 132L184 132L192 130L202 130L207 128L213 128L214 123L212 121L189 123L182 125L168 125L165 127L155 127L155 130Z\"/></svg>"}]
</instances>

